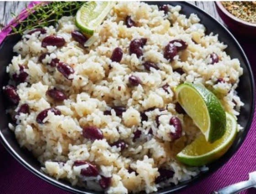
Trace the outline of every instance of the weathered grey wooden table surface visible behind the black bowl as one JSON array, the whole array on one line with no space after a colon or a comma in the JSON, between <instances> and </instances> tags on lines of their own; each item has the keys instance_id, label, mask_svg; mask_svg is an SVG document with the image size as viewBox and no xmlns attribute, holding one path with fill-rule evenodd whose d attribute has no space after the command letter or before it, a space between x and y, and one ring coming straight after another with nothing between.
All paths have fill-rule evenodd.
<instances>
[{"instance_id":1,"label":"weathered grey wooden table surface visible behind the black bowl","mask_svg":"<svg viewBox=\"0 0 256 194\"><path fill-rule=\"evenodd\" d=\"M19 13L23 8L26 7L28 3L29 1L1 1L0 13L3 13L3 14L0 15L0 29L3 26L5 26L8 22L11 21L12 19L11 13L14 13L14 14ZM208 1L208 2L191 1L190 3L197 5L201 9L208 12L211 16L221 21L218 13L215 10L215 5L213 1Z\"/></svg>"}]
</instances>

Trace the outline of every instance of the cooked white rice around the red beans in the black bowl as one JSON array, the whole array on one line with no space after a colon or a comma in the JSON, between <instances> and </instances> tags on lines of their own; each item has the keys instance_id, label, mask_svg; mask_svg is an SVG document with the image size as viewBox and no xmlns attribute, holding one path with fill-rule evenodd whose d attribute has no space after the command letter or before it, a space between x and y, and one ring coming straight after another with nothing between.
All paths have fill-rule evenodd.
<instances>
[{"instance_id":1,"label":"cooked white rice around the red beans in the black bowl","mask_svg":"<svg viewBox=\"0 0 256 194\"><path fill-rule=\"evenodd\" d=\"M227 46L219 42L218 35L205 34L205 27L199 23L197 15L191 14L187 18L179 13L180 10L181 6L169 5L169 12L165 15L156 5L118 3L97 27L94 33L96 42L88 48L81 47L71 37L71 31L78 30L72 16L62 17L57 27L45 27L46 34L36 32L23 35L14 47L18 55L13 57L7 73L12 77L19 72L19 64L22 64L29 76L27 83L17 85L21 100L18 107L9 112L14 114L20 105L27 103L30 113L16 116L17 125L10 124L10 128L21 147L31 151L42 163L45 173L57 179L64 178L72 185L94 190L102 190L98 184L100 175L112 177L111 186L105 190L107 194L142 190L150 193L200 173L199 168L187 167L175 159L176 154L191 143L200 131L187 115L176 112L174 88L184 82L203 84L216 94L227 112L239 115L243 103L235 89L243 69L238 59L231 59L224 52ZM137 27L128 28L124 24L126 16L131 16ZM41 47L43 38L48 35L61 36L66 44L60 48ZM135 54L129 54L129 44L131 40L140 38L147 38L147 43L143 48L143 57L137 58ZM163 57L163 51L168 42L174 39L182 39L188 47L178 52L170 63ZM120 63L110 59L116 47L123 49ZM51 54L40 63L38 57L44 52ZM209 55L213 52L220 60L209 65ZM46 64L56 57L75 69L72 81ZM157 63L160 69L145 71L142 65L144 61ZM173 72L176 68L182 68L185 73L180 75ZM130 75L138 76L142 84L129 87ZM219 78L225 82L216 84ZM170 85L169 94L161 88L166 83ZM55 102L46 95L46 91L53 88L62 90L68 99ZM112 106L117 105L127 108L122 116L116 116L115 111L111 110ZM53 106L61 110L62 115L49 111L45 119L47 122L38 124L38 113ZM166 110L147 112L148 121L141 123L140 113L151 107ZM104 115L105 110L111 110L112 115ZM162 115L159 117L159 127L155 122L156 115ZM176 141L169 136L174 130L169 125L172 115L182 123L182 136ZM85 126L98 127L104 138L95 141L84 138L82 128ZM153 135L149 134L150 129ZM133 142L135 130L142 131L142 135ZM120 139L127 143L123 152L110 146ZM81 176L81 168L87 166L73 167L76 160L93 163L100 175ZM129 173L129 168L136 173ZM159 176L158 168L173 171L173 178L155 184L155 178Z\"/></svg>"}]
</instances>

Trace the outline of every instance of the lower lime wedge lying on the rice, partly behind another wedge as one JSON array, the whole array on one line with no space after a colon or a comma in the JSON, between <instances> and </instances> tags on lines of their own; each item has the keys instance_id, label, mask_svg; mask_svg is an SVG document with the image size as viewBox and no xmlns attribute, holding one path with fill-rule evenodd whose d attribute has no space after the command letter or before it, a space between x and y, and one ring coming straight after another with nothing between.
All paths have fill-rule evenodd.
<instances>
[{"instance_id":1,"label":"lower lime wedge lying on the rice, partly behind another wedge","mask_svg":"<svg viewBox=\"0 0 256 194\"><path fill-rule=\"evenodd\" d=\"M214 143L206 142L203 134L177 154L177 159L190 166L203 166L218 159L228 151L237 133L237 122L226 113L226 132Z\"/></svg>"}]
</instances>

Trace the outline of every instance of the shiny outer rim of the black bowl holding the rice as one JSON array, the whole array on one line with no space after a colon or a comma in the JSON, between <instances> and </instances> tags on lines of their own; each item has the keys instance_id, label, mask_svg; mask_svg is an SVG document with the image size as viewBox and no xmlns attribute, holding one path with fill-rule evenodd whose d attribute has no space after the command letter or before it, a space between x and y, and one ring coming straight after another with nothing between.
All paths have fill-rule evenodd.
<instances>
[{"instance_id":1,"label":"shiny outer rim of the black bowl holding the rice","mask_svg":"<svg viewBox=\"0 0 256 194\"><path fill-rule=\"evenodd\" d=\"M155 4L157 4L159 1L154 1ZM165 3L168 4L172 4L173 1L165 1ZM179 1L175 1L175 2L179 2ZM243 131L241 137L240 137L240 141L236 144L235 150L231 153L229 153L229 155L227 155L225 158L223 158L223 161L221 163L219 163L219 165L216 165L212 168L210 168L208 171L205 172L201 172L199 175L197 175L196 177L192 178L189 180L189 182L181 182L179 185L179 187L177 188L172 188L172 190L170 191L170 186L169 187L165 187L163 188L163 190L154 192L152 194L169 194L171 193L177 193L180 190L184 189L184 188L188 188L189 186L191 186L192 184L197 183L198 181L202 180L203 178L207 178L210 175L212 175L214 172L216 172L218 169L222 168L224 166L225 163L227 163L229 161L229 159L231 157L234 156L234 154L239 150L239 148L241 147L242 143L245 141L245 138L251 128L251 123L252 123L252 119L254 116L254 110L255 110L255 81L254 81L254 75L251 69L251 64L248 60L248 58L245 55L245 52L243 50L243 48L240 46L239 42L236 40L236 38L233 36L233 34L220 22L218 21L216 18L214 18L213 16L211 16L210 14L208 14L205 10L202 10L201 8L197 7L196 5L193 5L189 2L183 1L183 2L179 2L181 4L183 4L183 6L190 6L192 7L193 10L197 11L197 12L201 12L204 15L207 15L208 17L210 17L212 20L214 20L220 28L223 28L226 33L229 35L230 39L232 41L234 41L238 51L241 53L241 57L243 58L243 60L245 61L245 66L248 69L248 75L251 78L250 79L250 85L251 85L251 89L252 89L252 98L251 98L251 109L250 109L250 115L248 117L248 124L247 126L245 126L245 130ZM152 4L150 4L152 5ZM6 41L6 37L4 39L3 42ZM3 42L1 42L0 44L0 48L3 45ZM37 170L36 168L33 168L31 164L27 163L19 154L16 153L16 151L11 147L11 145L8 143L8 141L5 139L4 134L2 133L2 131L0 130L0 142L2 143L2 145L5 147L5 149L19 162L21 163L21 165L25 168L27 168L30 172L32 172L33 174L35 174L37 177L42 178L44 181L48 182L49 184L52 184L60 189L64 189L66 191L75 193L75 194L102 194L96 191L92 191L92 190L87 190L84 189L83 191L81 189L78 189L76 187L73 187L67 184L64 184L63 182L50 177L49 175L43 173L40 170Z\"/></svg>"}]
</instances>

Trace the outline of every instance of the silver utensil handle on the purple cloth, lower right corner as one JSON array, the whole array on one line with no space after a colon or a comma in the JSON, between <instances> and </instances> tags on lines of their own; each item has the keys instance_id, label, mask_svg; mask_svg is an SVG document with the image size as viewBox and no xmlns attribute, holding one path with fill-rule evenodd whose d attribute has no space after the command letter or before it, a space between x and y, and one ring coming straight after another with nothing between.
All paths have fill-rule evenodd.
<instances>
[{"instance_id":1,"label":"silver utensil handle on the purple cloth, lower right corner","mask_svg":"<svg viewBox=\"0 0 256 194\"><path fill-rule=\"evenodd\" d=\"M218 191L213 191L211 194L236 194L245 189L256 186L256 171L249 173L249 180L242 181L240 183L231 184Z\"/></svg>"}]
</instances>

